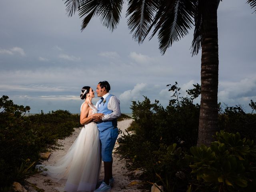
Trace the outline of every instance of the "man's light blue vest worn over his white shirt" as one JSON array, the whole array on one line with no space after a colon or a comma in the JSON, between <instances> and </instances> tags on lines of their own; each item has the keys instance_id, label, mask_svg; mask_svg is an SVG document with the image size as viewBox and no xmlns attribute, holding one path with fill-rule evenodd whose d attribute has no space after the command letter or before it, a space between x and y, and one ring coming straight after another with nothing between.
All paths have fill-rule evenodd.
<instances>
[{"instance_id":1,"label":"man's light blue vest worn over his white shirt","mask_svg":"<svg viewBox=\"0 0 256 192\"><path fill-rule=\"evenodd\" d=\"M113 95L109 94L105 98L106 102L102 102L101 104L100 104L100 102L98 102L98 105L97 105L98 113L110 114L110 113L113 112L112 110L108 109L108 102L109 102L109 99L110 99L111 96L113 96ZM110 120L110 121L103 121L103 122L98 123L97 126L98 126L98 130L100 132L103 132L104 130L106 130L108 128L116 127L117 126L117 120L114 119L114 120Z\"/></svg>"}]
</instances>

